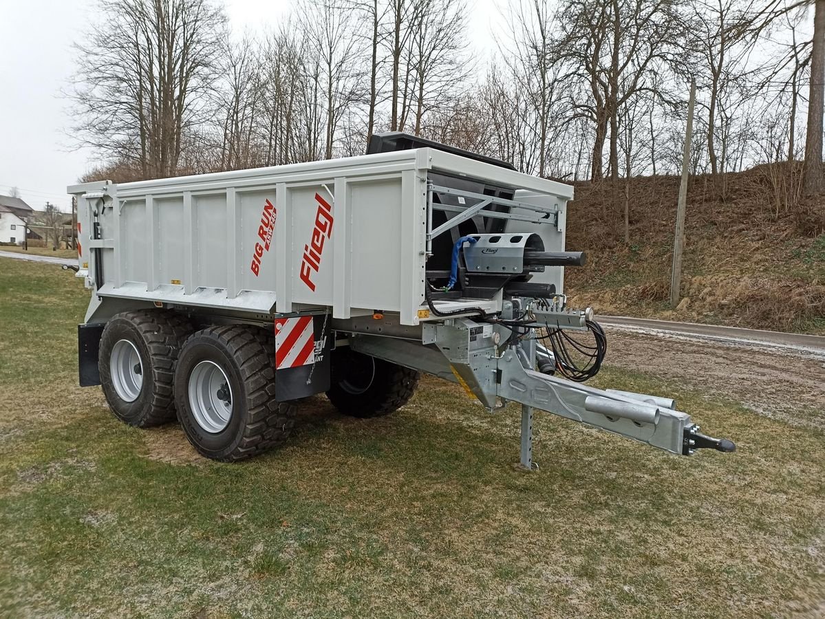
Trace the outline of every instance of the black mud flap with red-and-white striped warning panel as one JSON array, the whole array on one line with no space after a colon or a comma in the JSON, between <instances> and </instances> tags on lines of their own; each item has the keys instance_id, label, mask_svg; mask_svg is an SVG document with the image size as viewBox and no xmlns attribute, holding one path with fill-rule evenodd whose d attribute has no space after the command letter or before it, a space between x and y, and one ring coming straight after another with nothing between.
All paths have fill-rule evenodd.
<instances>
[{"instance_id":1,"label":"black mud flap with red-and-white striped warning panel","mask_svg":"<svg viewBox=\"0 0 825 619\"><path fill-rule=\"evenodd\" d=\"M329 316L275 321L275 397L297 400L329 390L332 337Z\"/></svg>"}]
</instances>

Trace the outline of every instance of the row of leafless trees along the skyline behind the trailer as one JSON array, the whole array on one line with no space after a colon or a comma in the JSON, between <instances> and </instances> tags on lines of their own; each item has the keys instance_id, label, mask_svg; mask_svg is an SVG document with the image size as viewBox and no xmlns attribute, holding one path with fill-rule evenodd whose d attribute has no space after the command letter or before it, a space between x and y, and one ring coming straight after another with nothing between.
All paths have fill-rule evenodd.
<instances>
[{"instance_id":1,"label":"row of leafless trees along the skyline behind the trailer","mask_svg":"<svg viewBox=\"0 0 825 619\"><path fill-rule=\"evenodd\" d=\"M227 32L218 2L101 0L77 48L75 129L121 176L353 155L403 130L605 182L602 216L629 241L626 179L676 171L691 77L691 166L717 198L728 171L792 162L806 112L821 160L805 2L509 0L487 67L470 62L467 0L298 0L256 36Z\"/></svg>"}]
</instances>

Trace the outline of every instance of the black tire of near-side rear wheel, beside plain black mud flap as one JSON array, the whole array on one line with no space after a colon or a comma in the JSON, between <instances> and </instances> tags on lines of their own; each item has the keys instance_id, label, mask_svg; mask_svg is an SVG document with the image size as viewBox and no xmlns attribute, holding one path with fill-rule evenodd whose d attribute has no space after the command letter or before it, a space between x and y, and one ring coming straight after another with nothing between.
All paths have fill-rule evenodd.
<instances>
[{"instance_id":1,"label":"black tire of near-side rear wheel, beside plain black mud flap","mask_svg":"<svg viewBox=\"0 0 825 619\"><path fill-rule=\"evenodd\" d=\"M191 323L179 314L163 310L137 310L117 314L106 323L100 342L97 368L103 394L119 420L139 428L175 419L172 381L181 345L191 335ZM111 356L120 340L126 340L140 361L139 394L125 399L111 373ZM120 345L119 347L122 347ZM116 379L116 377L115 377Z\"/></svg>"}]
</instances>

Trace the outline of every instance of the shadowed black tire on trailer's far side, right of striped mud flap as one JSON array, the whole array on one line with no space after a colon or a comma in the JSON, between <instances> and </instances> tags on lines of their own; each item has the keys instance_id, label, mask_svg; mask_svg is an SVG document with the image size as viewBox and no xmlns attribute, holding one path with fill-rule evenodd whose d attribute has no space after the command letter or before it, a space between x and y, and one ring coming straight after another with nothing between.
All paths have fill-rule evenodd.
<instances>
[{"instance_id":1,"label":"shadowed black tire on trailer's far side, right of striped mud flap","mask_svg":"<svg viewBox=\"0 0 825 619\"><path fill-rule=\"evenodd\" d=\"M416 370L346 346L332 351L332 386L327 397L344 415L381 417L407 404L420 377Z\"/></svg>"}]
</instances>

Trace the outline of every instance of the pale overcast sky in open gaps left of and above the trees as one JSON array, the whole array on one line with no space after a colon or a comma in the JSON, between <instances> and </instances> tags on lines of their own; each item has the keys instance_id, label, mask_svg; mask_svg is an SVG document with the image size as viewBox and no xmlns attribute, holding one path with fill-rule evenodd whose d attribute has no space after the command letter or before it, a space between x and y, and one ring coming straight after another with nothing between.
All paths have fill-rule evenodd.
<instances>
[{"instance_id":1,"label":"pale overcast sky in open gaps left of and above the trees","mask_svg":"<svg viewBox=\"0 0 825 619\"><path fill-rule=\"evenodd\" d=\"M500 2L468 2L470 38L482 42L478 54L493 45L489 33ZM226 7L234 31L265 31L292 3L228 0ZM42 210L48 200L68 210L66 185L96 161L86 149L69 150L70 122L60 96L73 73L70 46L88 31L94 7L94 0L0 0L0 194L16 186L33 209Z\"/></svg>"}]
</instances>

